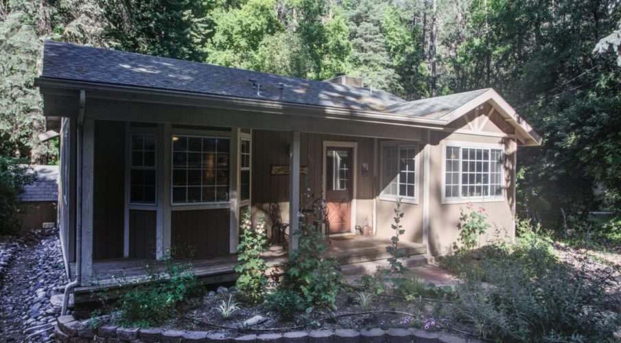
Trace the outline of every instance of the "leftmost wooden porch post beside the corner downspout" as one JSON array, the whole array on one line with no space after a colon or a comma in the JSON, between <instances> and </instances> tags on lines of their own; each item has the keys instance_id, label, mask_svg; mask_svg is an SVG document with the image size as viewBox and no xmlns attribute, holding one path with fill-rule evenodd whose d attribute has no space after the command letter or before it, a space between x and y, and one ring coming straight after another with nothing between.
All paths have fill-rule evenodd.
<instances>
[{"instance_id":1,"label":"leftmost wooden porch post beside the corner downspout","mask_svg":"<svg viewBox=\"0 0 621 343\"><path fill-rule=\"evenodd\" d=\"M93 275L93 173L95 171L95 120L84 119L82 126L82 263L80 281L91 283Z\"/></svg>"}]
</instances>

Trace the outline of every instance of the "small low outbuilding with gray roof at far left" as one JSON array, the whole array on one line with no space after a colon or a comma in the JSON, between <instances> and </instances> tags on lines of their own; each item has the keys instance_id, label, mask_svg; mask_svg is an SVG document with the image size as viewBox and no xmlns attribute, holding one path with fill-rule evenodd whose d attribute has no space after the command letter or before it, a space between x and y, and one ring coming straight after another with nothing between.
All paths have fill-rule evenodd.
<instances>
[{"instance_id":1,"label":"small low outbuilding with gray roof at far left","mask_svg":"<svg viewBox=\"0 0 621 343\"><path fill-rule=\"evenodd\" d=\"M36 180L26 185L18 200L26 205L17 215L23 228L56 227L58 209L58 165L26 165Z\"/></svg>"}]
</instances>

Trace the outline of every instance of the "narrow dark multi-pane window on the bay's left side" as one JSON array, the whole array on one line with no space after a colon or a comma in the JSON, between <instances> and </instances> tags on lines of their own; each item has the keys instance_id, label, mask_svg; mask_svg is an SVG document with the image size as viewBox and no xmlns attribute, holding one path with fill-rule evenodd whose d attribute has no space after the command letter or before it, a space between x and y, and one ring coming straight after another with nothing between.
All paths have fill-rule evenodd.
<instances>
[{"instance_id":1,"label":"narrow dark multi-pane window on the bay's left side","mask_svg":"<svg viewBox=\"0 0 621 343\"><path fill-rule=\"evenodd\" d=\"M156 135L132 134L130 145L130 202L155 204Z\"/></svg>"}]
</instances>

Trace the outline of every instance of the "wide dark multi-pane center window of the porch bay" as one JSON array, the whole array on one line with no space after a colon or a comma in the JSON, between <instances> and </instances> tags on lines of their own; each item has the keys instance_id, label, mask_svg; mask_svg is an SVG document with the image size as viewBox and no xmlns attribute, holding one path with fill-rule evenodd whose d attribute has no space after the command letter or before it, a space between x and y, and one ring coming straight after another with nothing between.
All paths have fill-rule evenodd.
<instances>
[{"instance_id":1,"label":"wide dark multi-pane center window of the porch bay","mask_svg":"<svg viewBox=\"0 0 621 343\"><path fill-rule=\"evenodd\" d=\"M230 139L172 137L172 202L229 200Z\"/></svg>"}]
</instances>

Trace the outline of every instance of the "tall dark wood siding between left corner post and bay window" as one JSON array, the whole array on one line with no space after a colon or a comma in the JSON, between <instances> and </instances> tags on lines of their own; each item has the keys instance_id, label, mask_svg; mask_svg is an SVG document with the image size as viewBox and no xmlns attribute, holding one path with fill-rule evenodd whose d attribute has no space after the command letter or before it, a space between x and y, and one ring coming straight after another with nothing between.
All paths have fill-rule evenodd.
<instances>
[{"instance_id":1,"label":"tall dark wood siding between left corner post and bay window","mask_svg":"<svg viewBox=\"0 0 621 343\"><path fill-rule=\"evenodd\" d=\"M93 259L123 257L125 123L95 121Z\"/></svg>"}]
</instances>

